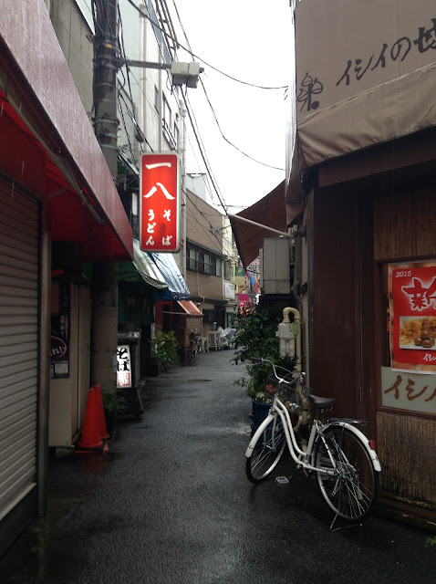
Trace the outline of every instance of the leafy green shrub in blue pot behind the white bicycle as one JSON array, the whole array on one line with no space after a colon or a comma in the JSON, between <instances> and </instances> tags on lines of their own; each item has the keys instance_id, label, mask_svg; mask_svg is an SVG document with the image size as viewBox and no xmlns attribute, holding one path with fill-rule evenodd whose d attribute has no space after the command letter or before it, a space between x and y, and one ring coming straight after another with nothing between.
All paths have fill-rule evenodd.
<instances>
[{"instance_id":1,"label":"leafy green shrub in blue pot behind the white bicycle","mask_svg":"<svg viewBox=\"0 0 436 584\"><path fill-rule=\"evenodd\" d=\"M279 357L279 339L275 336L280 317L266 309L254 305L238 308L234 318L234 358L235 364L245 364L246 375L235 382L244 387L252 398L252 430L259 426L268 415L274 399L275 383L271 381L271 366L268 363L253 363L253 357L272 360L275 365L293 370L295 360Z\"/></svg>"}]
</instances>

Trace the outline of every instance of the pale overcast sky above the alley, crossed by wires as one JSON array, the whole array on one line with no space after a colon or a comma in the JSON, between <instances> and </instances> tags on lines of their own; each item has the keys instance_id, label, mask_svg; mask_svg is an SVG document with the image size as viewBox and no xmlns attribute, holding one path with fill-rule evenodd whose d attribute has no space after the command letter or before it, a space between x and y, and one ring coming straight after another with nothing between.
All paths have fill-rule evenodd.
<instances>
[{"instance_id":1,"label":"pale overcast sky above the alley, crossed by wires","mask_svg":"<svg viewBox=\"0 0 436 584\"><path fill-rule=\"evenodd\" d=\"M168 0L179 42L187 47L174 5L202 67L202 82L223 135L254 162L228 144L217 126L202 85L188 89L204 151L223 201L237 213L285 179L285 127L290 99L283 88L293 75L294 35L289 0ZM179 51L180 61L192 60ZM211 67L212 66L212 67ZM189 122L188 127L189 127ZM205 172L190 132L187 172ZM219 203L213 193L213 202Z\"/></svg>"}]
</instances>

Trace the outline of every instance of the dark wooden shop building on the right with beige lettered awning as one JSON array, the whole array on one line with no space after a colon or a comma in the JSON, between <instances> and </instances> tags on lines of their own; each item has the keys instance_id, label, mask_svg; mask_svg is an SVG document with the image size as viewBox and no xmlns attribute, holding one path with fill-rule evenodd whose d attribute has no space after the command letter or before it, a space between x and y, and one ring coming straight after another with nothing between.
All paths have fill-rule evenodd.
<instances>
[{"instance_id":1,"label":"dark wooden shop building on the right with beige lettered awning","mask_svg":"<svg viewBox=\"0 0 436 584\"><path fill-rule=\"evenodd\" d=\"M296 134L286 191L310 386L337 399L336 415L369 422L382 504L429 525L436 512L435 23L426 0L413 10L404 0L296 6Z\"/></svg>"}]
</instances>

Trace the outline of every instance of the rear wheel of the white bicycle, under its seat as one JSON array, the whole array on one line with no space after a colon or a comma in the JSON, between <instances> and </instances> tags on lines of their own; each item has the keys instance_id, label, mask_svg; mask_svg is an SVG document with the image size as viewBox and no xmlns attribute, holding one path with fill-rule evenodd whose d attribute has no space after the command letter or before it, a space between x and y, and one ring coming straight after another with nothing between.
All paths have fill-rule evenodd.
<instances>
[{"instance_id":1,"label":"rear wheel of the white bicycle, under its seat","mask_svg":"<svg viewBox=\"0 0 436 584\"><path fill-rule=\"evenodd\" d=\"M321 495L337 516L350 522L362 521L377 501L379 473L355 433L342 426L333 426L327 428L323 436L326 443L319 437L314 465L333 470L334 474L317 473Z\"/></svg>"}]
</instances>

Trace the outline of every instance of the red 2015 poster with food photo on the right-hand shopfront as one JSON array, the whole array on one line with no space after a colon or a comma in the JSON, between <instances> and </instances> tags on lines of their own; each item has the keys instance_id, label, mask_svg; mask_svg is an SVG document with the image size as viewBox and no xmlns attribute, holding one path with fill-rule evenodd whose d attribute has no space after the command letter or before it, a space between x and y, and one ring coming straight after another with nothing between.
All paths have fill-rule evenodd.
<instances>
[{"instance_id":1,"label":"red 2015 poster with food photo on the right-hand shopfront","mask_svg":"<svg viewBox=\"0 0 436 584\"><path fill-rule=\"evenodd\" d=\"M436 263L389 265L392 370L436 371Z\"/></svg>"}]
</instances>

